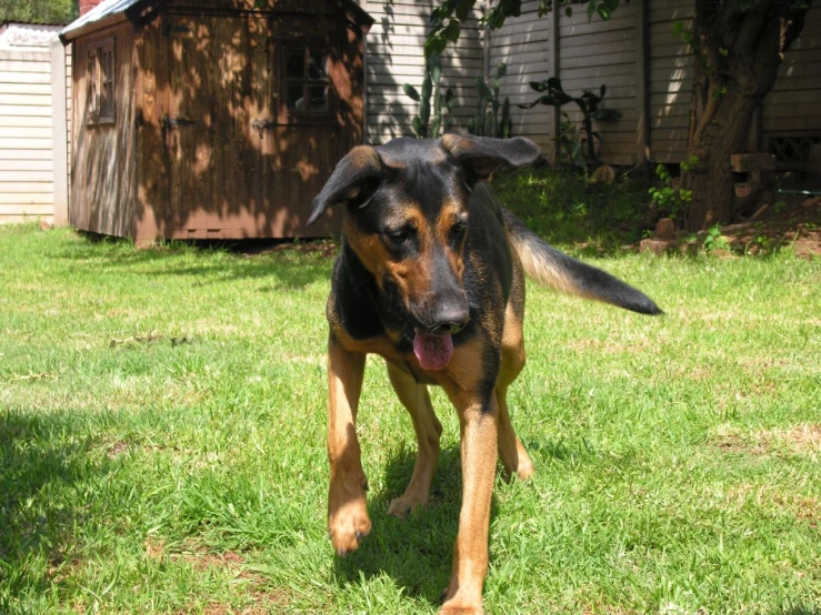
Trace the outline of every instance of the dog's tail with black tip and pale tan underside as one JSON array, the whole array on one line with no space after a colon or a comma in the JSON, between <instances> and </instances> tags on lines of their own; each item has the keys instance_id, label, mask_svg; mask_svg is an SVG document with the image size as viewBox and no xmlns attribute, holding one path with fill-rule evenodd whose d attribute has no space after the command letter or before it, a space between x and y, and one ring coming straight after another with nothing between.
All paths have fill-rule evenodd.
<instances>
[{"instance_id":1,"label":"dog's tail with black tip and pale tan underside","mask_svg":"<svg viewBox=\"0 0 821 615\"><path fill-rule=\"evenodd\" d=\"M641 314L663 314L644 293L559 252L507 209L503 212L510 243L529 278L558 291L612 303Z\"/></svg>"}]
</instances>

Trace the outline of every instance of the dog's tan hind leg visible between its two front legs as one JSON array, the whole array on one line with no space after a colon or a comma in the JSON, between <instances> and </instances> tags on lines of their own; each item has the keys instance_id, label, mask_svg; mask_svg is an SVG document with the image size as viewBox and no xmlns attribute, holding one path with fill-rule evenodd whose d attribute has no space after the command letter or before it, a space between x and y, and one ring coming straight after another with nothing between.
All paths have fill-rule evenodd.
<instances>
[{"instance_id":1,"label":"dog's tan hind leg visible between its two front legs","mask_svg":"<svg viewBox=\"0 0 821 615\"><path fill-rule=\"evenodd\" d=\"M442 434L442 425L433 413L433 404L431 404L428 387L424 384L417 383L411 375L406 374L390 363L387 365L391 385L397 392L399 401L402 402L402 405L411 415L413 431L417 433L417 443L419 444L417 463L413 466L413 475L408 488L404 490L401 497L393 500L388 508L389 514L404 518L414 508L428 504L430 484L433 481L433 473L439 462L439 437Z\"/></svg>"}]
</instances>

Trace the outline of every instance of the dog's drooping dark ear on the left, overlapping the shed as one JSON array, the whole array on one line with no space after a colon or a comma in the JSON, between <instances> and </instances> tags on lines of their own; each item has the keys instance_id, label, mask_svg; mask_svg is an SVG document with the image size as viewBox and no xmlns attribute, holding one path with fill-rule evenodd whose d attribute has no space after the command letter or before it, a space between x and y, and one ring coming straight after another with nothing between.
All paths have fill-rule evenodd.
<instances>
[{"instance_id":1,"label":"dog's drooping dark ear on the left, overlapping the shed","mask_svg":"<svg viewBox=\"0 0 821 615\"><path fill-rule=\"evenodd\" d=\"M331 205L363 198L369 186L382 174L382 161L370 145L357 145L339 161L328 182L313 199L308 224L313 224Z\"/></svg>"}]
</instances>

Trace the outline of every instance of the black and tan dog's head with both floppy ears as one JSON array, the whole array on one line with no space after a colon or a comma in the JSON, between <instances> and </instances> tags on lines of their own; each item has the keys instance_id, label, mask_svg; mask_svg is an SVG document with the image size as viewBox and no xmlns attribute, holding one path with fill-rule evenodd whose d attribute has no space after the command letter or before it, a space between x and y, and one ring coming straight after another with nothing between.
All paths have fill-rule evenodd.
<instances>
[{"instance_id":1,"label":"black and tan dog's head with both floppy ears","mask_svg":"<svg viewBox=\"0 0 821 615\"><path fill-rule=\"evenodd\" d=\"M469 320L462 273L473 186L504 164L538 155L522 138L445 134L359 145L313 200L308 223L329 206L346 205L347 242L391 312L417 332L419 355L418 343L447 346Z\"/></svg>"}]
</instances>

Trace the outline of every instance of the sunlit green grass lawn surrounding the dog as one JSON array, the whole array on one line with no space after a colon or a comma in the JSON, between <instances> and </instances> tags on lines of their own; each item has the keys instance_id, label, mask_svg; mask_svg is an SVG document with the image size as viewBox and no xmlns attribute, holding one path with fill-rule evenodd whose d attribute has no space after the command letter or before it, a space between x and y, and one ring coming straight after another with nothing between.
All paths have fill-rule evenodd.
<instances>
[{"instance_id":1,"label":"sunlit green grass lawn surrounding the dog","mask_svg":"<svg viewBox=\"0 0 821 615\"><path fill-rule=\"evenodd\" d=\"M818 614L821 262L589 262L668 315L529 285L537 474L498 481L488 612ZM431 505L389 517L414 444L376 359L373 532L326 536L330 269L0 228L0 613L435 612L458 424L437 392Z\"/></svg>"}]
</instances>

